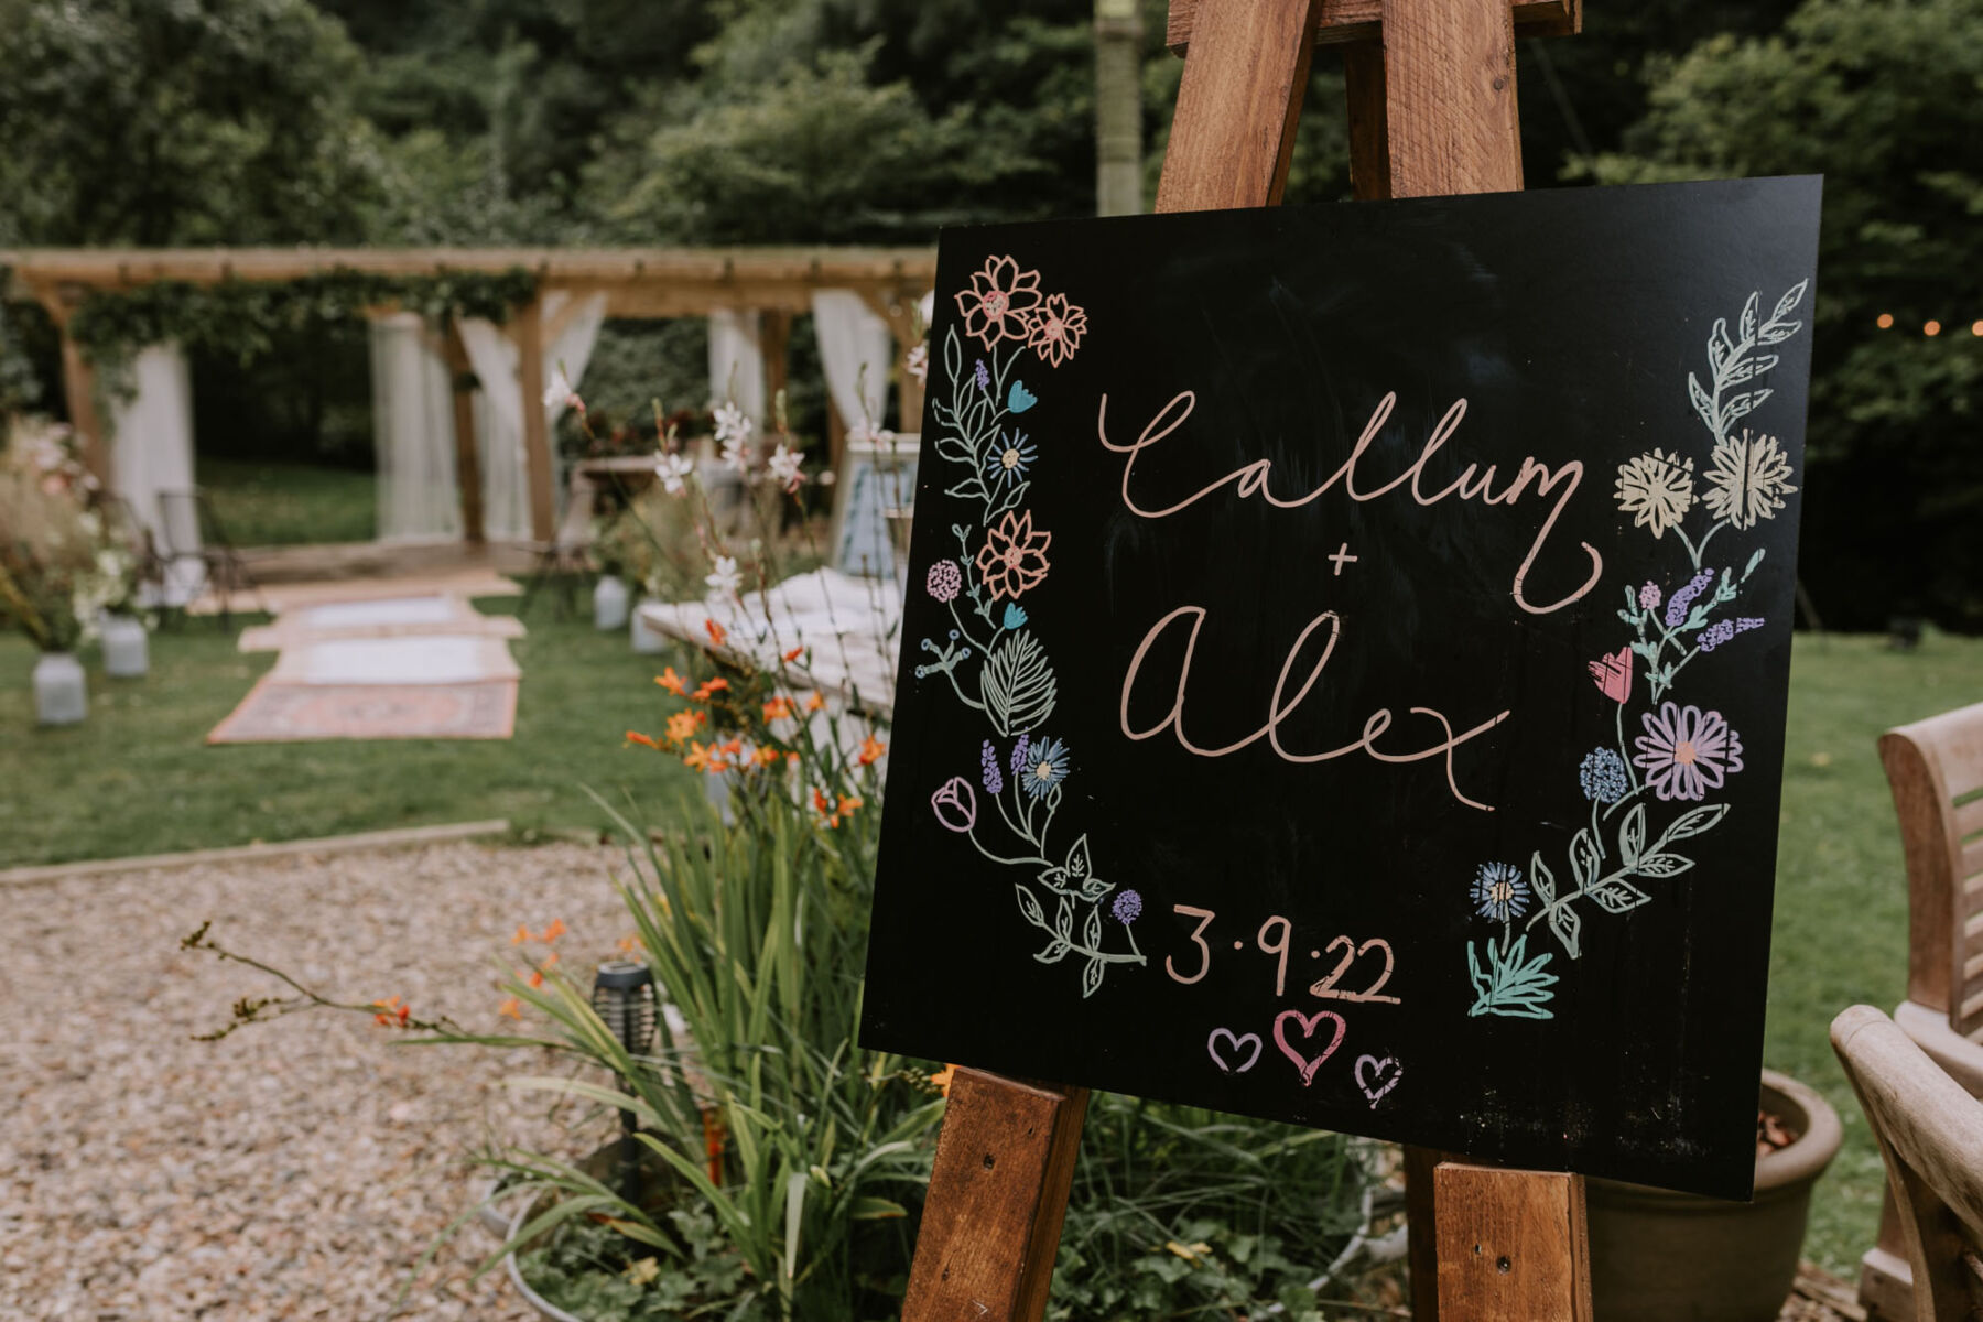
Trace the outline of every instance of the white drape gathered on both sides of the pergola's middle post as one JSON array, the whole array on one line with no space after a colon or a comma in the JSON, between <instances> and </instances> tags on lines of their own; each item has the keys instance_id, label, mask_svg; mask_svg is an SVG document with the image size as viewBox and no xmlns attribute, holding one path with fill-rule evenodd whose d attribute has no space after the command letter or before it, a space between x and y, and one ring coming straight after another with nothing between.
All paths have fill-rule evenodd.
<instances>
[{"instance_id":1,"label":"white drape gathered on both sides of the pergola's middle post","mask_svg":"<svg viewBox=\"0 0 1983 1322\"><path fill-rule=\"evenodd\" d=\"M585 381L585 365L599 343L607 295L593 293L577 303L563 289L543 295L543 323L557 331L543 345L545 386L563 367L573 388ZM551 402L525 400L518 379L516 341L494 321L478 317L460 323L468 365L482 388L476 392L476 438L482 460L482 531L492 539L529 537L529 460L524 454L524 406L543 408L555 426L565 412L563 396Z\"/></svg>"}]
</instances>

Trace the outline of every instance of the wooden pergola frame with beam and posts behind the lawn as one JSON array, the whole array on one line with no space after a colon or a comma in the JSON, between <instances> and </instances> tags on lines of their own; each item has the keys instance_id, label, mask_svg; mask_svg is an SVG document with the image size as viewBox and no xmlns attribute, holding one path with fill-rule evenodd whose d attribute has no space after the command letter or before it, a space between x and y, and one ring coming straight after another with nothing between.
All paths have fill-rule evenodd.
<instances>
[{"instance_id":1,"label":"wooden pergola frame with beam and posts behind the lawn","mask_svg":"<svg viewBox=\"0 0 1983 1322\"><path fill-rule=\"evenodd\" d=\"M230 279L288 281L333 272L375 275L446 275L452 272L500 274L524 270L537 277L537 299L510 319L525 400L543 394L543 345L557 335L543 315L543 295L603 293L607 317L662 319L704 317L720 309L763 315L767 388L785 385L785 345L791 317L811 309L815 289L853 289L894 333L896 357L914 345L916 301L936 283L932 248L32 248L0 250L0 268L12 272L12 293L32 297L61 333L61 379L69 418L81 438L83 458L111 478L103 418L95 402L89 361L69 337L69 317L99 289L133 289L180 281L212 285ZM387 311L387 309L381 309ZM468 355L456 329L442 327L450 371L462 381ZM904 416L922 410L920 390L902 377ZM456 466L462 490L462 523L472 541L482 539L480 462L474 444L472 394L454 396ZM553 464L549 426L541 408L524 408L524 448L529 466L529 521L539 541L553 535Z\"/></svg>"}]
</instances>

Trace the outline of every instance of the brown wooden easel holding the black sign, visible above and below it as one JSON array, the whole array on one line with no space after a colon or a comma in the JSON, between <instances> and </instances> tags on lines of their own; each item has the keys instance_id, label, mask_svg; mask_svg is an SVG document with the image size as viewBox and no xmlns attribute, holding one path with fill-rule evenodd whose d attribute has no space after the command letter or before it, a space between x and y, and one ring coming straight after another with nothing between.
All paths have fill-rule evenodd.
<instances>
[{"instance_id":1,"label":"brown wooden easel holding the black sign, visible above and below it","mask_svg":"<svg viewBox=\"0 0 1983 1322\"><path fill-rule=\"evenodd\" d=\"M1319 42L1344 44L1358 198L1521 188L1515 28L1576 32L1580 0L1172 0L1184 52L1156 210L1273 206ZM1037 1322L1085 1088L958 1070L902 1322ZM1406 1150L1412 1316L1588 1322L1580 1175Z\"/></svg>"}]
</instances>

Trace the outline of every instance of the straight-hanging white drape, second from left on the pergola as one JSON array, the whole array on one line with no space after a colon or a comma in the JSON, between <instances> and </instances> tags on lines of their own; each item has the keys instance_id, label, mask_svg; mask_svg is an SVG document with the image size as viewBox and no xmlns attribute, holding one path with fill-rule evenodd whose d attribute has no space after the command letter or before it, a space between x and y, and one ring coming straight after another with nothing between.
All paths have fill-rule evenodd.
<instances>
[{"instance_id":1,"label":"straight-hanging white drape, second from left on the pergola","mask_svg":"<svg viewBox=\"0 0 1983 1322\"><path fill-rule=\"evenodd\" d=\"M454 383L418 313L371 323L379 539L462 535L454 476Z\"/></svg>"}]
</instances>

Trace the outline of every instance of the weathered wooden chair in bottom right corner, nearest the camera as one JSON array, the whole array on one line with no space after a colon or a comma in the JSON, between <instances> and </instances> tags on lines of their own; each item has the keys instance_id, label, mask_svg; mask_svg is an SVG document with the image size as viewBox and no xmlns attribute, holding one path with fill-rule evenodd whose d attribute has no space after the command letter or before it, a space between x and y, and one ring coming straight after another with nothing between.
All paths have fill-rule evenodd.
<instances>
[{"instance_id":1,"label":"weathered wooden chair in bottom right corner, nearest the camera","mask_svg":"<svg viewBox=\"0 0 1983 1322\"><path fill-rule=\"evenodd\" d=\"M1832 1021L1832 1050L1886 1157L1888 1207L1914 1278L1906 1318L1983 1316L1983 1102L1870 1005Z\"/></svg>"}]
</instances>

